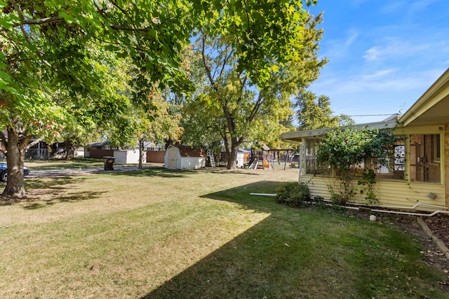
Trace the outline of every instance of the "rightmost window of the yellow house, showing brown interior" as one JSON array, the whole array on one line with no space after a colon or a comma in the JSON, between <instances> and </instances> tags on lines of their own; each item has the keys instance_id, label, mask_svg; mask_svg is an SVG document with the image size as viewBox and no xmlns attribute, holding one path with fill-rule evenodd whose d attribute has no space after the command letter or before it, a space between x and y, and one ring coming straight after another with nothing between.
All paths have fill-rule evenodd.
<instances>
[{"instance_id":1,"label":"rightmost window of the yellow house, showing brown interior","mask_svg":"<svg viewBox=\"0 0 449 299\"><path fill-rule=\"evenodd\" d=\"M410 135L410 181L441 183L440 134Z\"/></svg>"}]
</instances>

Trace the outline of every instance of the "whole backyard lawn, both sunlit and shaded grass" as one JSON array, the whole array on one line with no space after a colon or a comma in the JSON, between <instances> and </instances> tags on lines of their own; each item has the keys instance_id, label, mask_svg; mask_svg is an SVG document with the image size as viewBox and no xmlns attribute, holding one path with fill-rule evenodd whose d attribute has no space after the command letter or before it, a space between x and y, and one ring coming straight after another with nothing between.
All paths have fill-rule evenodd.
<instances>
[{"instance_id":1,"label":"whole backyard lawn, both sunlit and shaded grass","mask_svg":"<svg viewBox=\"0 0 449 299\"><path fill-rule=\"evenodd\" d=\"M295 179L156 168L26 179L29 199L0 204L0 298L449 297L413 235L249 195Z\"/></svg>"}]
</instances>

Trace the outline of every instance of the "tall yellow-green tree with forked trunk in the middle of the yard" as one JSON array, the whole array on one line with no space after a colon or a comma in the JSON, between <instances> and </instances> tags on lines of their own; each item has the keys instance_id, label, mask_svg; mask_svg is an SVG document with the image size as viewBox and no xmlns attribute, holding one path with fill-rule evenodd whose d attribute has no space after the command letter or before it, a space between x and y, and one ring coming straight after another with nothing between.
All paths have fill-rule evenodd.
<instances>
[{"instance_id":1,"label":"tall yellow-green tree with forked trunk in the middle of the yard","mask_svg":"<svg viewBox=\"0 0 449 299\"><path fill-rule=\"evenodd\" d=\"M314 81L326 63L316 54L321 15L309 15L300 1L277 2L242 2L234 15L217 15L196 40L208 85L196 101L203 118L222 135L228 169L235 167L244 141L279 137L283 121L293 113L290 97ZM227 22L244 27L246 39L235 39L227 27L220 27ZM241 53L241 48L250 50Z\"/></svg>"}]
</instances>

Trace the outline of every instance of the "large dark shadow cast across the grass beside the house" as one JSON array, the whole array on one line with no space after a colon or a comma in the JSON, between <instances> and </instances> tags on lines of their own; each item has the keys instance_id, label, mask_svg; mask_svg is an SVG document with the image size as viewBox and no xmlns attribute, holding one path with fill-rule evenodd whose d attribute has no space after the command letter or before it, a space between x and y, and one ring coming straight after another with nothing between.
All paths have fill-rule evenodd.
<instances>
[{"instance_id":1,"label":"large dark shadow cast across the grass beside the house","mask_svg":"<svg viewBox=\"0 0 449 299\"><path fill-rule=\"evenodd\" d=\"M204 195L267 217L141 299L446 298L437 283L443 273L424 265L400 230L249 195L274 193L282 184L262 181ZM377 233L389 238L373 239ZM385 252L401 252L401 259Z\"/></svg>"}]
</instances>

